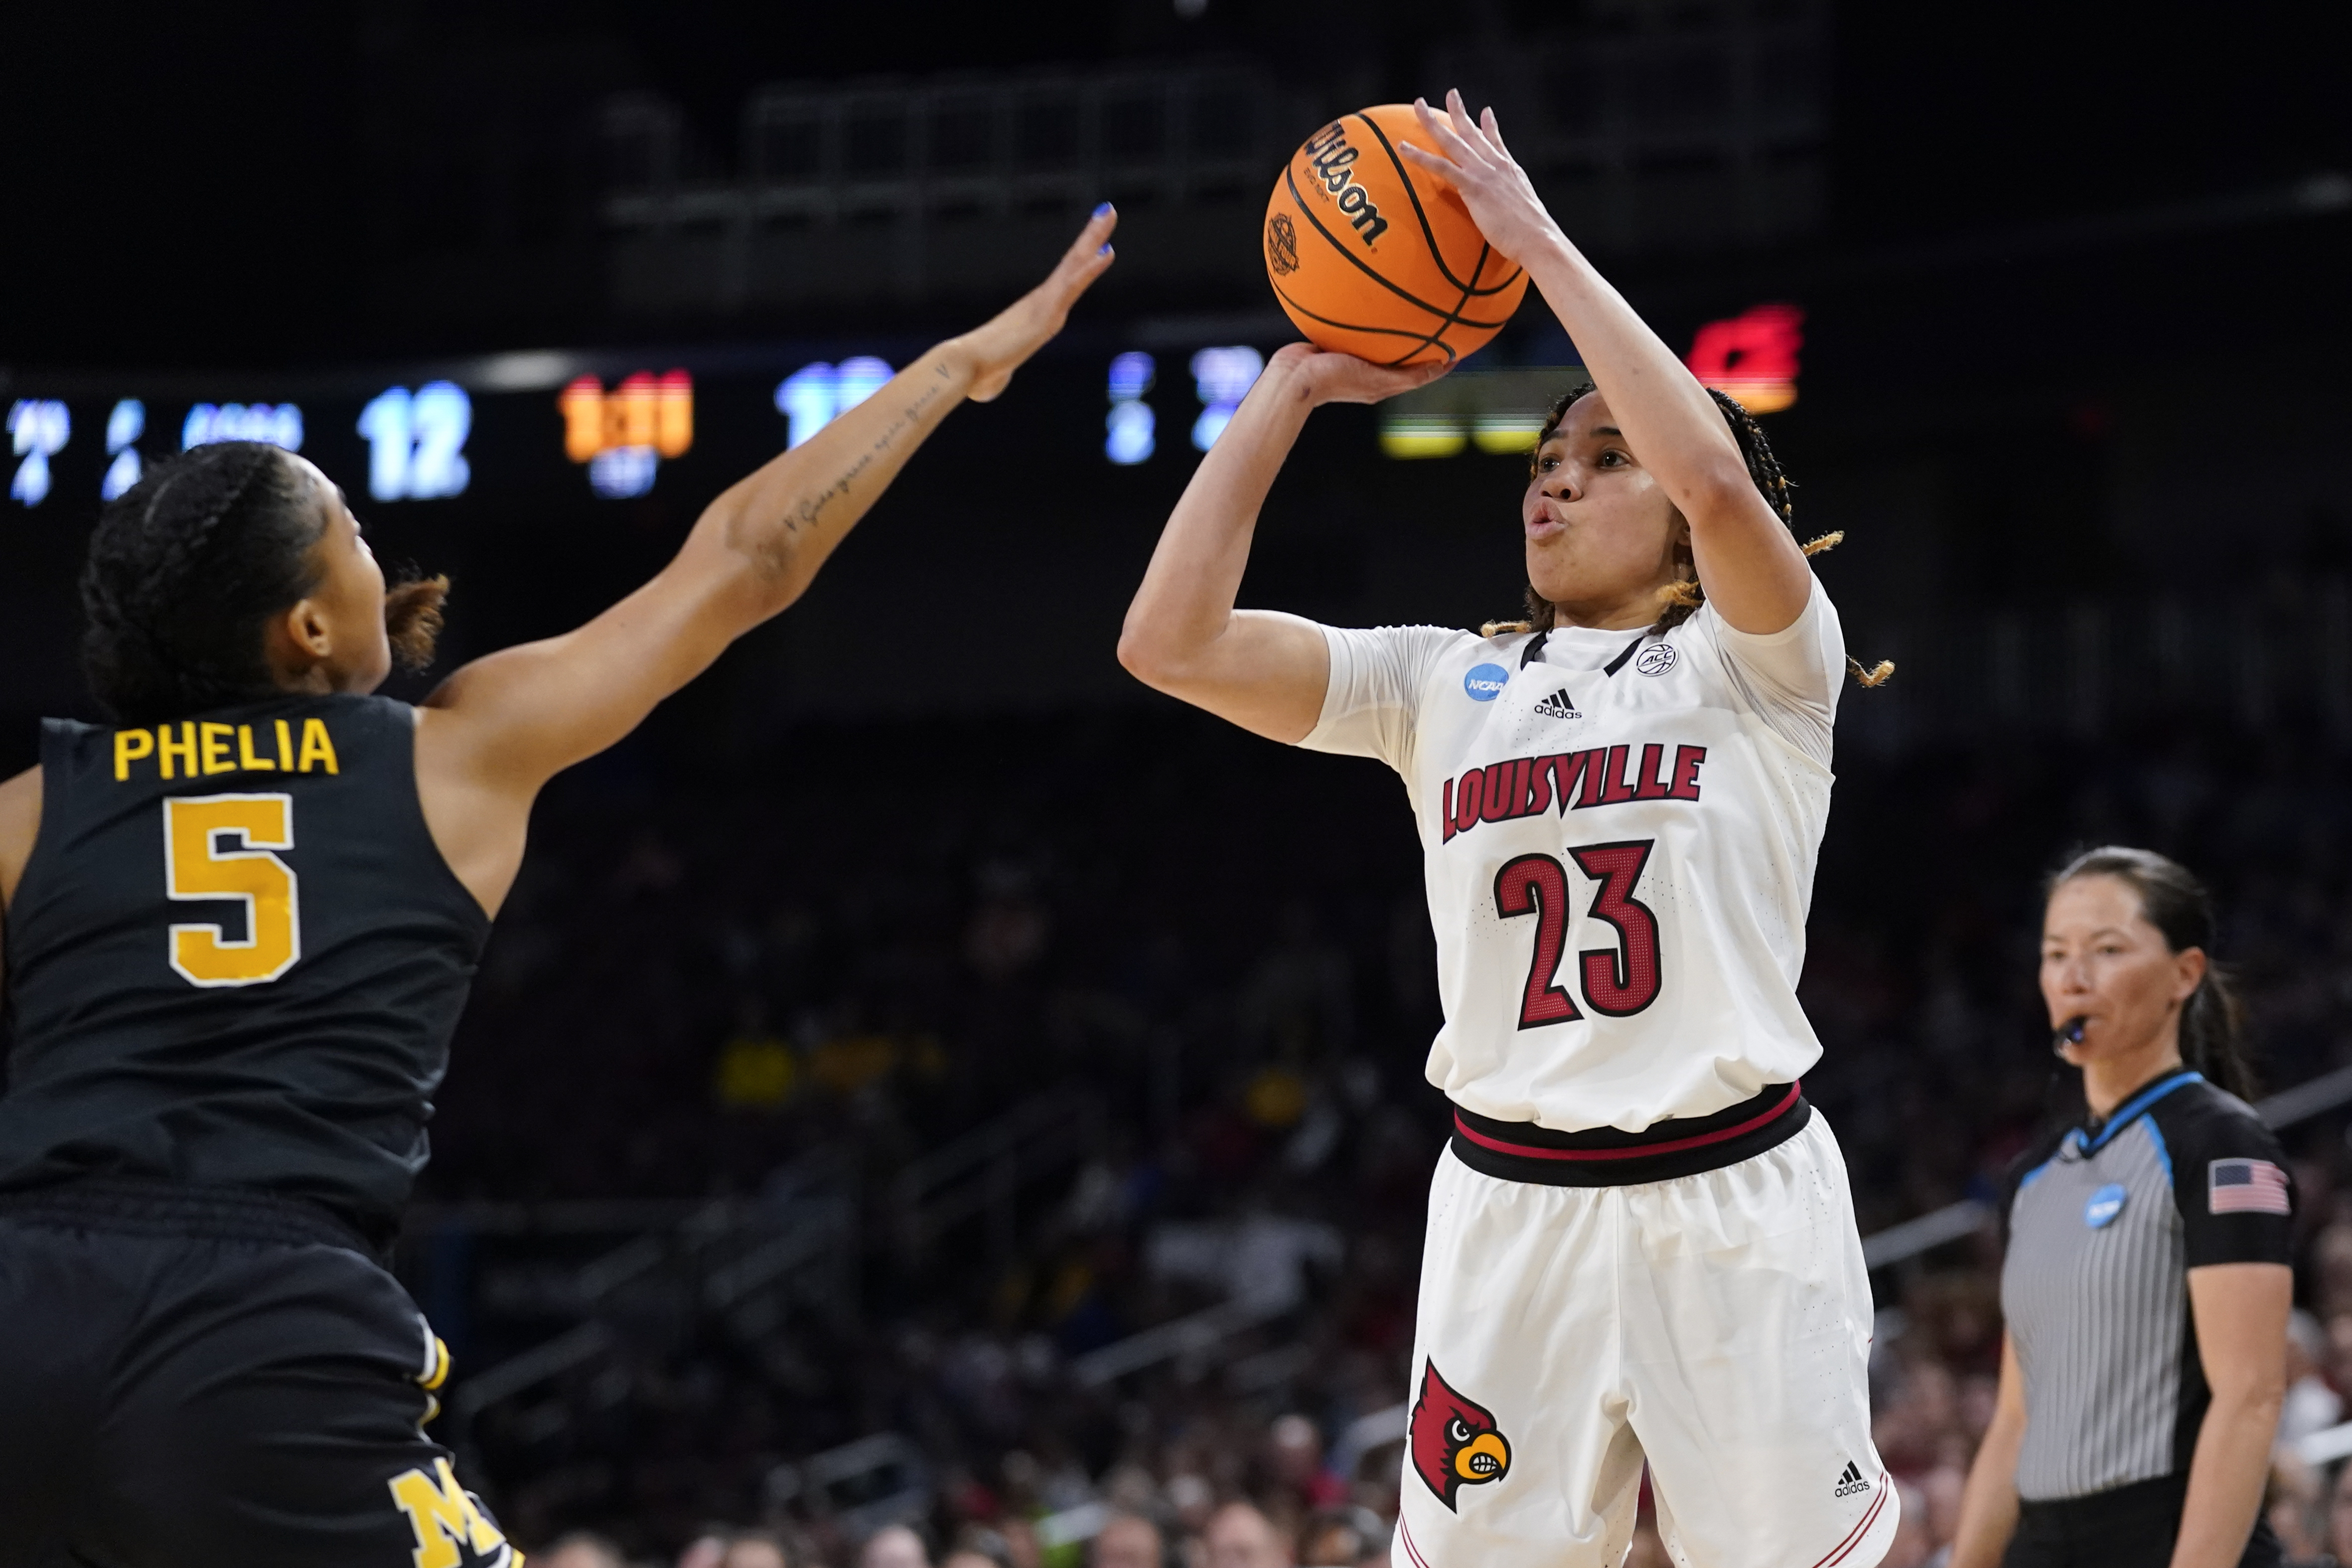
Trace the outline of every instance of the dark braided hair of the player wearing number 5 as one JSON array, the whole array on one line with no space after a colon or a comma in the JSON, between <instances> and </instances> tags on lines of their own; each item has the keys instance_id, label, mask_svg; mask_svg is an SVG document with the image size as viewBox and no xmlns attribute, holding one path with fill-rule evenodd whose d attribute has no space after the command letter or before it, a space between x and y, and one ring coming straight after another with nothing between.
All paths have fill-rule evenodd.
<instances>
[{"instance_id":1,"label":"dark braided hair of the player wearing number 5","mask_svg":"<svg viewBox=\"0 0 2352 1568\"><path fill-rule=\"evenodd\" d=\"M165 458L99 512L82 564L82 670L122 724L278 693L263 623L318 588L318 496L278 447L214 442ZM386 597L393 649L433 656L447 578Z\"/></svg>"}]
</instances>

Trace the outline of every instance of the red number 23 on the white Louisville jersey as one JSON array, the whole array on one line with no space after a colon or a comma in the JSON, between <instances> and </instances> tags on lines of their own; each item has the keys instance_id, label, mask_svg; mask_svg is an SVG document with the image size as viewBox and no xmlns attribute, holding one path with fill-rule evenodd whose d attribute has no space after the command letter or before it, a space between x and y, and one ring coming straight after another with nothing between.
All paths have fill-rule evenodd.
<instances>
[{"instance_id":1,"label":"red number 23 on the white Louisville jersey","mask_svg":"<svg viewBox=\"0 0 2352 1568\"><path fill-rule=\"evenodd\" d=\"M1616 947L1588 947L1576 954L1585 1006L1604 1018L1628 1018L1658 999L1658 917L1632 896L1649 865L1656 839L1623 844L1588 844L1571 849L1576 870L1599 882L1592 893L1592 919L1616 929ZM1494 912L1503 919L1536 917L1536 952L1526 964L1526 990L1519 994L1519 1027L1541 1030L1548 1023L1583 1018L1569 987L1557 983L1559 950L1569 940L1569 867L1552 856L1519 856L1494 875Z\"/></svg>"}]
</instances>

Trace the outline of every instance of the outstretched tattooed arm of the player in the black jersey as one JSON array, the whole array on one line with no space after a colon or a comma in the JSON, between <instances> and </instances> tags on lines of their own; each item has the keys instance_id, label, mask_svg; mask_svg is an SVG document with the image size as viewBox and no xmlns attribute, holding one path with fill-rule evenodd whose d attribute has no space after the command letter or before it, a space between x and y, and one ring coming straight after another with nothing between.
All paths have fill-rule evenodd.
<instances>
[{"instance_id":1,"label":"outstretched tattooed arm of the player in the black jersey","mask_svg":"<svg viewBox=\"0 0 2352 1568\"><path fill-rule=\"evenodd\" d=\"M1110 266L1108 207L1054 273L948 339L809 442L720 494L663 571L588 625L477 658L426 698L416 783L459 879L496 907L539 788L593 757L729 642L797 599L842 536L967 397L988 402Z\"/></svg>"}]
</instances>

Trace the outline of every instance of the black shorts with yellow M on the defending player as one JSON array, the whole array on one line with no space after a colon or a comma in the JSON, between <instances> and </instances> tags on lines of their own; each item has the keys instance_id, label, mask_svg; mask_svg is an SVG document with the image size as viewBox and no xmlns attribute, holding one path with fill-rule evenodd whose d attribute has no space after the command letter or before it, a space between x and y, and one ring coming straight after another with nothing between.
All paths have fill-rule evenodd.
<instances>
[{"instance_id":1,"label":"black shorts with yellow M on the defending player","mask_svg":"<svg viewBox=\"0 0 2352 1568\"><path fill-rule=\"evenodd\" d=\"M0 1563L520 1563L423 1436L447 1354L360 1246L259 1194L0 1197Z\"/></svg>"}]
</instances>

